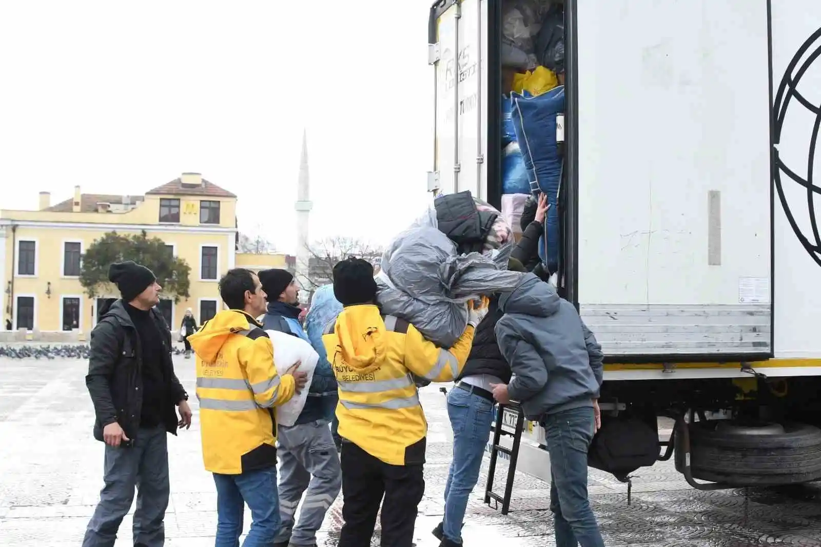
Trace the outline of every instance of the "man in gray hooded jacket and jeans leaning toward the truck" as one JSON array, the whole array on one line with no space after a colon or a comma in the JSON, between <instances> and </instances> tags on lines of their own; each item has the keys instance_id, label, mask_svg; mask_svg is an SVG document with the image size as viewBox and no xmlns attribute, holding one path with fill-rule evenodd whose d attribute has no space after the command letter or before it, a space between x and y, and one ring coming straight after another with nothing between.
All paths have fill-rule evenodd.
<instances>
[{"instance_id":1,"label":"man in gray hooded jacket and jeans leaning toward the truck","mask_svg":"<svg viewBox=\"0 0 821 547\"><path fill-rule=\"evenodd\" d=\"M576 308L534 274L502 295L499 308L496 338L513 379L494 384L493 397L519 401L544 427L556 545L604 547L587 499L587 451L601 425L602 347Z\"/></svg>"}]
</instances>

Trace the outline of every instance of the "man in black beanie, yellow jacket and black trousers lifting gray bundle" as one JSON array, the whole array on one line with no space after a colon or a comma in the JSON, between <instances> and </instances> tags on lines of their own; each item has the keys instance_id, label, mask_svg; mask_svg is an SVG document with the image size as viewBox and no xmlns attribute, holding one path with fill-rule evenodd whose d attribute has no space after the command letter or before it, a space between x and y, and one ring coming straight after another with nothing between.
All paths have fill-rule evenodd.
<instances>
[{"instance_id":1,"label":"man in black beanie, yellow jacket and black trousers lifting gray bundle","mask_svg":"<svg viewBox=\"0 0 821 547\"><path fill-rule=\"evenodd\" d=\"M459 375L487 300L478 309L471 306L465 333L446 350L406 321L380 315L374 268L367 261L338 263L333 292L345 306L323 335L339 384L345 520L339 547L370 545L383 495L382 545L410 547L424 494L428 429L412 375L432 382Z\"/></svg>"}]
</instances>

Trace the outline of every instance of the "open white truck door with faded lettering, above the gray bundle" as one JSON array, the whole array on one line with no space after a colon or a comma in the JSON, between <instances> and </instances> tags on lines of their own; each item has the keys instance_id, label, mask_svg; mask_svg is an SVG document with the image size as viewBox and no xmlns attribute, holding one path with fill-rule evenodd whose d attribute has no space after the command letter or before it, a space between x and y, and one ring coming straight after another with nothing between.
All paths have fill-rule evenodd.
<instances>
[{"instance_id":1,"label":"open white truck door with faded lettering, above the gray bundle","mask_svg":"<svg viewBox=\"0 0 821 547\"><path fill-rule=\"evenodd\" d=\"M433 170L438 191L486 199L489 0L433 6L429 62L435 66ZM431 188L433 190L433 188Z\"/></svg>"}]
</instances>

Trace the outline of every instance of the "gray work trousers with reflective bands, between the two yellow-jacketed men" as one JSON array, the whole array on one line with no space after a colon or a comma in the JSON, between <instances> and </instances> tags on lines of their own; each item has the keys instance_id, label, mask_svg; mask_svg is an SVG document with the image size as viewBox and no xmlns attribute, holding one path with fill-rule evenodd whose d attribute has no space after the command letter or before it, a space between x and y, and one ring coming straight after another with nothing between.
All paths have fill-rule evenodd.
<instances>
[{"instance_id":1,"label":"gray work trousers with reflective bands, between the two yellow-jacketed men","mask_svg":"<svg viewBox=\"0 0 821 547\"><path fill-rule=\"evenodd\" d=\"M314 545L316 531L342 489L342 467L331 429L326 420L291 427L280 425L277 441L282 520L277 543L290 540L291 545ZM300 521L294 526L303 493Z\"/></svg>"}]
</instances>

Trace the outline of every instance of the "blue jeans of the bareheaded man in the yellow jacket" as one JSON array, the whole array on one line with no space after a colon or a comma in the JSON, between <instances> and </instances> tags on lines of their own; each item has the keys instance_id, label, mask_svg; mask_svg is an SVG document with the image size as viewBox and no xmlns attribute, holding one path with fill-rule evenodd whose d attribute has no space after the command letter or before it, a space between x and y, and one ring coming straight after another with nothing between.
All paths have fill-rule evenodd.
<instances>
[{"instance_id":1,"label":"blue jeans of the bareheaded man in the yellow jacket","mask_svg":"<svg viewBox=\"0 0 821 547\"><path fill-rule=\"evenodd\" d=\"M245 471L240 475L213 474L217 485L217 540L215 547L239 547L245 503L251 527L243 547L270 547L279 531L277 467Z\"/></svg>"}]
</instances>

